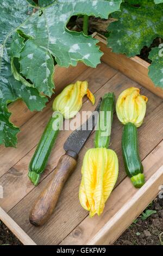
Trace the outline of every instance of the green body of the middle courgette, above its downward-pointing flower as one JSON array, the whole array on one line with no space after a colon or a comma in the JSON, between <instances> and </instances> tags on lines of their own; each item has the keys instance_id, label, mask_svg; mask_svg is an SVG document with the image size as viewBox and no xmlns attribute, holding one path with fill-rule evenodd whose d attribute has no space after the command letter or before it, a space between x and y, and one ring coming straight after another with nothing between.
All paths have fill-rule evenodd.
<instances>
[{"instance_id":1,"label":"green body of the middle courgette, above its downward-pointing flower","mask_svg":"<svg viewBox=\"0 0 163 256\"><path fill-rule=\"evenodd\" d=\"M115 108L114 93L104 95L95 134L95 148L109 148L112 118Z\"/></svg>"}]
</instances>

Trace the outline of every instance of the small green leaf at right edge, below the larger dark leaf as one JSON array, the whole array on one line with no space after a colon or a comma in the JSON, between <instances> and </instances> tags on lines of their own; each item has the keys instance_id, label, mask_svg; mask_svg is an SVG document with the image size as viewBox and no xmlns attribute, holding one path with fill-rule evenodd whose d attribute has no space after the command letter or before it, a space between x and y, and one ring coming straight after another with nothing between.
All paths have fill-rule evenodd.
<instances>
[{"instance_id":1,"label":"small green leaf at right edge, below the larger dark leaf","mask_svg":"<svg viewBox=\"0 0 163 256\"><path fill-rule=\"evenodd\" d=\"M161 45L160 48L152 48L152 51L149 53L148 58L152 60L152 64L148 68L148 75L155 86L163 88L163 44Z\"/></svg>"}]
</instances>

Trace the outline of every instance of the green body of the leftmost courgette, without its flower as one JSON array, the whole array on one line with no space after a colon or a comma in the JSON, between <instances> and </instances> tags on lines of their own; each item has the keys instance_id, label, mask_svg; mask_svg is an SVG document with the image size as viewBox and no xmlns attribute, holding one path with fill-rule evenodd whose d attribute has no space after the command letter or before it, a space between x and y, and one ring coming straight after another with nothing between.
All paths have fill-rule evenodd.
<instances>
[{"instance_id":1,"label":"green body of the leftmost courgette, without its flower","mask_svg":"<svg viewBox=\"0 0 163 256\"><path fill-rule=\"evenodd\" d=\"M28 177L35 186L39 183L40 175L46 168L62 122L63 117L61 113L54 113L53 117L49 119L32 160L29 163Z\"/></svg>"}]
</instances>

